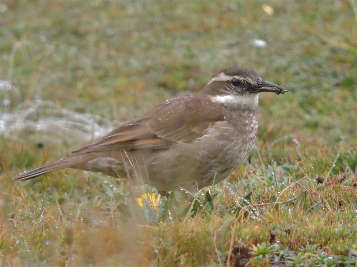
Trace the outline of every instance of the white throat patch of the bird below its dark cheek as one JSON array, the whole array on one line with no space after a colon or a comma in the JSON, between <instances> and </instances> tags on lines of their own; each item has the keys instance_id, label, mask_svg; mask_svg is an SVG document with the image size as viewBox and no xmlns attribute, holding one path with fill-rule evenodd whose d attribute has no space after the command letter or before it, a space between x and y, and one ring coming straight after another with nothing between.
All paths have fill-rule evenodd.
<instances>
[{"instance_id":1,"label":"white throat patch of the bird below its dark cheek","mask_svg":"<svg viewBox=\"0 0 357 267\"><path fill-rule=\"evenodd\" d=\"M228 94L225 96L211 96L211 101L214 103L221 104L232 104L235 106L248 106L257 107L258 106L258 93L247 94L245 96Z\"/></svg>"}]
</instances>

